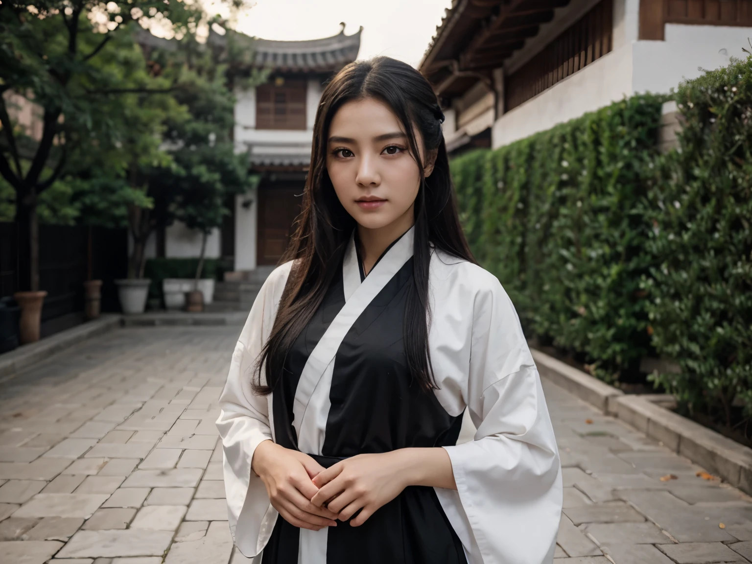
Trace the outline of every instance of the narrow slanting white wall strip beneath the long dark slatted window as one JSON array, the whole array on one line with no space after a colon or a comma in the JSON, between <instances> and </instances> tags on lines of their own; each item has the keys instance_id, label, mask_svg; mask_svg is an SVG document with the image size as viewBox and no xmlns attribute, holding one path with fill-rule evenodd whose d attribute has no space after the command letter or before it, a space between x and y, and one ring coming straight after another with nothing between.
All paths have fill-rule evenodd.
<instances>
[{"instance_id":1,"label":"narrow slanting white wall strip beneath the long dark slatted window","mask_svg":"<svg viewBox=\"0 0 752 564\"><path fill-rule=\"evenodd\" d=\"M494 148L502 147L631 93L632 44L629 44L503 114L491 129L491 144Z\"/></svg>"}]
</instances>

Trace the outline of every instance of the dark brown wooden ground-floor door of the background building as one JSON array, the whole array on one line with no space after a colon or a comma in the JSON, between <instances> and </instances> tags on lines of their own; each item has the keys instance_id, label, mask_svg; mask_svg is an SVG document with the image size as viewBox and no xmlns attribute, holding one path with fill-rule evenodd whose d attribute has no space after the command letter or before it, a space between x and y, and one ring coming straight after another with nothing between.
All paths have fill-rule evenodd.
<instances>
[{"instance_id":1,"label":"dark brown wooden ground-floor door of the background building","mask_svg":"<svg viewBox=\"0 0 752 564\"><path fill-rule=\"evenodd\" d=\"M276 265L290 244L293 222L300 213L302 183L268 183L259 186L256 262Z\"/></svg>"}]
</instances>

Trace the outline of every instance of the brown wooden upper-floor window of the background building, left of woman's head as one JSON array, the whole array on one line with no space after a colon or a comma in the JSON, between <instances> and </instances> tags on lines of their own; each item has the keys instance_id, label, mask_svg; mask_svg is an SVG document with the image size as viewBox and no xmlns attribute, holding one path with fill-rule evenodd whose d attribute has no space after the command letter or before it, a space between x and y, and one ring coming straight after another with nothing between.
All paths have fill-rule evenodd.
<instances>
[{"instance_id":1,"label":"brown wooden upper-floor window of the background building, left of woman's head","mask_svg":"<svg viewBox=\"0 0 752 564\"><path fill-rule=\"evenodd\" d=\"M306 81L286 79L256 87L256 129L305 129Z\"/></svg>"}]
</instances>

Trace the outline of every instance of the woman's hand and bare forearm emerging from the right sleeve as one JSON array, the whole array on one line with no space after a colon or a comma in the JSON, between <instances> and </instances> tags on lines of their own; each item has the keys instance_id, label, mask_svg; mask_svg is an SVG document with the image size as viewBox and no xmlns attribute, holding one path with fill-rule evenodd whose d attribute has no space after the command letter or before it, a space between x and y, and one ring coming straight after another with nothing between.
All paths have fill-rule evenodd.
<instances>
[{"instance_id":1,"label":"woman's hand and bare forearm emerging from the right sleeve","mask_svg":"<svg viewBox=\"0 0 752 564\"><path fill-rule=\"evenodd\" d=\"M314 505L326 505L343 521L361 510L350 521L352 526L365 523L378 508L399 496L405 487L434 486L456 490L449 454L441 447L359 454L320 472L313 482L319 488L311 498Z\"/></svg>"}]
</instances>

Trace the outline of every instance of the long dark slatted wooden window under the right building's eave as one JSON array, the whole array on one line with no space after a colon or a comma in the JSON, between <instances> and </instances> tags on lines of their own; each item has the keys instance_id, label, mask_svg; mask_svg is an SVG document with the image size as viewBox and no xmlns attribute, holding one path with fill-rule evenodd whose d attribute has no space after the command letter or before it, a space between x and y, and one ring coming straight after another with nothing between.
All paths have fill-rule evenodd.
<instances>
[{"instance_id":1,"label":"long dark slatted wooden window under the right building's eave","mask_svg":"<svg viewBox=\"0 0 752 564\"><path fill-rule=\"evenodd\" d=\"M602 0L504 82L505 111L574 74L613 48L612 0Z\"/></svg>"}]
</instances>

